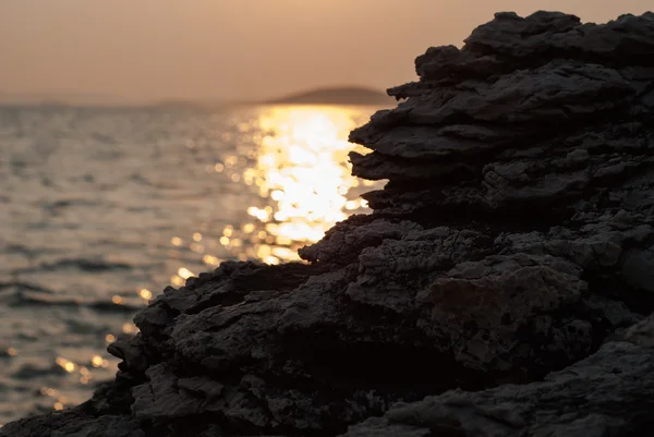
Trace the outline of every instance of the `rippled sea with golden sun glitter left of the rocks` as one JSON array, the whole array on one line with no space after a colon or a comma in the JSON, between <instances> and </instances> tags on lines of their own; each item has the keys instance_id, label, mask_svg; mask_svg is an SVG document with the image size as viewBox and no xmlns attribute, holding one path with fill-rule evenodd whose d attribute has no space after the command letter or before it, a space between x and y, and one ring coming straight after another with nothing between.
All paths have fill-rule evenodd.
<instances>
[{"instance_id":1,"label":"rippled sea with golden sun glitter left of the rocks","mask_svg":"<svg viewBox=\"0 0 654 437\"><path fill-rule=\"evenodd\" d=\"M347 138L377 109L0 107L0 425L112 379L165 287L370 213Z\"/></svg>"}]
</instances>

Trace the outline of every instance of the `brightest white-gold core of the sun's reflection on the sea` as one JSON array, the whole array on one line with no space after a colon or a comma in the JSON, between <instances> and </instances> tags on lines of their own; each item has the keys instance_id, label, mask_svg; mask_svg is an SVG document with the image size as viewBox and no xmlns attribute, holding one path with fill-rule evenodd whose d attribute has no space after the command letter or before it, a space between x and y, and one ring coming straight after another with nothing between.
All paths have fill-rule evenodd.
<instances>
[{"instance_id":1,"label":"brightest white-gold core of the sun's reflection on the sea","mask_svg":"<svg viewBox=\"0 0 654 437\"><path fill-rule=\"evenodd\" d=\"M364 201L347 197L360 184L348 163L354 123L352 113L335 107L275 108L261 118L262 131L272 134L262 138L257 166L244 178L261 181L261 196L272 201L271 208L251 207L249 214L266 223L276 244L316 242L347 218L346 207L365 207ZM277 251L277 257L296 254Z\"/></svg>"}]
</instances>

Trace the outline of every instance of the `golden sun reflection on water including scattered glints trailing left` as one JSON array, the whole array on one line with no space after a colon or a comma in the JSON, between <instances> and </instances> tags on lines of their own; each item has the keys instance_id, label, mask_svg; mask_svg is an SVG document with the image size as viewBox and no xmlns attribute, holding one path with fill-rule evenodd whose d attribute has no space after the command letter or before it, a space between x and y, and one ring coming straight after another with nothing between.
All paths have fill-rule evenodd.
<instances>
[{"instance_id":1,"label":"golden sun reflection on water including scattered glints trailing left","mask_svg":"<svg viewBox=\"0 0 654 437\"><path fill-rule=\"evenodd\" d=\"M376 109L259 108L250 124L238 125L240 133L251 132L249 147L237 142L235 153L207 166L207 171L223 175L228 183L256 193L244 197L253 199L243 204L250 220L227 224L217 235L204 229L172 236L172 248L195 252L207 267L228 258L267 264L300 259L298 248L317 242L351 214L367 211L359 195L377 183L351 175L349 151L364 150L349 143L348 135ZM211 247L211 239L217 247ZM171 284L183 286L193 270L180 266Z\"/></svg>"}]
</instances>

